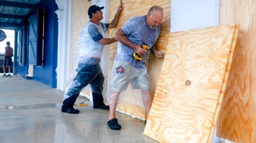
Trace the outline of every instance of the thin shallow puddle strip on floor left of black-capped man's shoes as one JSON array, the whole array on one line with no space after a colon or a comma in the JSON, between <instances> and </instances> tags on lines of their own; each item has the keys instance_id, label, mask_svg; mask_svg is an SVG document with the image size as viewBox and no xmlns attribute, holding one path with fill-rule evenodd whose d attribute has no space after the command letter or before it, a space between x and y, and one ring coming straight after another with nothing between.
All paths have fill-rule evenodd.
<instances>
[{"instance_id":1,"label":"thin shallow puddle strip on floor left of black-capped man's shoes","mask_svg":"<svg viewBox=\"0 0 256 143\"><path fill-rule=\"evenodd\" d=\"M3 109L18 109L18 110L25 110L25 109L46 109L46 108L60 108L62 103L42 103L42 104L34 104L34 105L25 105L25 106L0 106L0 110Z\"/></svg>"}]
</instances>

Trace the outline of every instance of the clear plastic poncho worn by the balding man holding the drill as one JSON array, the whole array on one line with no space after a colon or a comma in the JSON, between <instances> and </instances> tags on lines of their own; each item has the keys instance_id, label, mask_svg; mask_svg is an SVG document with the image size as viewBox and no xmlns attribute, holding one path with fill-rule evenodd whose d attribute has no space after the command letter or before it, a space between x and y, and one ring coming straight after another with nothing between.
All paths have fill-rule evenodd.
<instances>
[{"instance_id":1,"label":"clear plastic poncho worn by the balding man holding the drill","mask_svg":"<svg viewBox=\"0 0 256 143\"><path fill-rule=\"evenodd\" d=\"M131 42L138 45L144 42L152 47L156 43L161 27L159 25L155 29L148 28L145 16L139 16L127 20L121 30ZM124 101L144 109L151 106L151 87L144 63L149 53L150 50L141 55L140 61L136 61L133 59L134 50L118 42L116 58L108 80L107 103L114 104L114 107L117 102ZM147 102L149 100L151 103ZM147 103L150 105L146 105Z\"/></svg>"}]
</instances>

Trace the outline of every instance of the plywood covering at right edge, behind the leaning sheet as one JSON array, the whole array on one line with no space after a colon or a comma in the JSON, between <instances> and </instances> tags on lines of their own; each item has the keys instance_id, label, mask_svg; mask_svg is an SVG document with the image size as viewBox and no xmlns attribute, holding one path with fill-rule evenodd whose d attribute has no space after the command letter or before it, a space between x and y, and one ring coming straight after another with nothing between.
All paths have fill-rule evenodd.
<instances>
[{"instance_id":1,"label":"plywood covering at right edge, behind the leaning sheet","mask_svg":"<svg viewBox=\"0 0 256 143\"><path fill-rule=\"evenodd\" d=\"M255 0L221 0L220 24L240 23L217 122L217 135L236 143L256 141Z\"/></svg>"}]
</instances>

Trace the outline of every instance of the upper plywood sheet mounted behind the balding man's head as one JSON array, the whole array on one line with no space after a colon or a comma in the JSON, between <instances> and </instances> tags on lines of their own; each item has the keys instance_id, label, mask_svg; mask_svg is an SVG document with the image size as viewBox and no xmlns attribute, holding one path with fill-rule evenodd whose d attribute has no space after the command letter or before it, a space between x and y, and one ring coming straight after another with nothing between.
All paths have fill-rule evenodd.
<instances>
[{"instance_id":1,"label":"upper plywood sheet mounted behind the balding man's head","mask_svg":"<svg viewBox=\"0 0 256 143\"><path fill-rule=\"evenodd\" d=\"M160 36L156 42L157 49L163 54L168 43L170 33L170 20L171 20L171 0L122 0L124 9L120 14L116 28L109 29L109 37L115 37L118 30L130 17L146 15L148 10L154 6L161 6L164 9L164 17L161 24ZM116 15L117 7L120 0L109 1L109 21L113 20ZM110 59L116 57L117 42L110 45ZM154 54L149 55L149 59L157 59Z\"/></svg>"}]
</instances>

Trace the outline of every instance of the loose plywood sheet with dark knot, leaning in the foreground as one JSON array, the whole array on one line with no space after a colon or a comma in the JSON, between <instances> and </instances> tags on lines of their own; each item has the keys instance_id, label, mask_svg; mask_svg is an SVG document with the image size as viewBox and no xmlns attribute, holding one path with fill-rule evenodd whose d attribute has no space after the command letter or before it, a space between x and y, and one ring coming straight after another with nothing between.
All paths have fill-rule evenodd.
<instances>
[{"instance_id":1,"label":"loose plywood sheet with dark knot, leaning in the foreground","mask_svg":"<svg viewBox=\"0 0 256 143\"><path fill-rule=\"evenodd\" d=\"M143 134L161 143L211 143L238 28L231 24L170 33Z\"/></svg>"}]
</instances>

